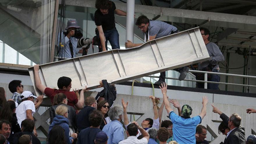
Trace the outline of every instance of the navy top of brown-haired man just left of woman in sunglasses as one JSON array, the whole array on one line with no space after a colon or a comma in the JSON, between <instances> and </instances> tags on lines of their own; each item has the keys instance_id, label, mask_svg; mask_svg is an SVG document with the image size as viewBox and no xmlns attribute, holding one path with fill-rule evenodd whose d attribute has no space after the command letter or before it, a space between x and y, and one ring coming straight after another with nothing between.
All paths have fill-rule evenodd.
<instances>
[{"instance_id":1,"label":"navy top of brown-haired man just left of woman in sunglasses","mask_svg":"<svg viewBox=\"0 0 256 144\"><path fill-rule=\"evenodd\" d=\"M85 106L79 113L77 114L77 129L78 132L80 132L82 129L85 129L87 127L91 126L91 123L89 122L89 114L95 110L94 107L91 106Z\"/></svg>"}]
</instances>

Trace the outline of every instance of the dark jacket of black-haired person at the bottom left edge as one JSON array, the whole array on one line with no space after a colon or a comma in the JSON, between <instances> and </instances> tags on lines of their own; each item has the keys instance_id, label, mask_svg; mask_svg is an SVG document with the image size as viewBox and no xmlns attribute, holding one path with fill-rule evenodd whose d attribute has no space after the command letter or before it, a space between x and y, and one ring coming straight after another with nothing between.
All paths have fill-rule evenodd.
<instances>
[{"instance_id":1,"label":"dark jacket of black-haired person at the bottom left edge","mask_svg":"<svg viewBox=\"0 0 256 144\"><path fill-rule=\"evenodd\" d=\"M13 134L12 137L10 136L8 141L11 144L18 144L19 143L19 137L21 137L24 134L32 136L32 143L33 144L40 144L41 143L40 140L37 137L35 137L32 132L29 132L29 131L17 132L15 134Z\"/></svg>"}]
</instances>

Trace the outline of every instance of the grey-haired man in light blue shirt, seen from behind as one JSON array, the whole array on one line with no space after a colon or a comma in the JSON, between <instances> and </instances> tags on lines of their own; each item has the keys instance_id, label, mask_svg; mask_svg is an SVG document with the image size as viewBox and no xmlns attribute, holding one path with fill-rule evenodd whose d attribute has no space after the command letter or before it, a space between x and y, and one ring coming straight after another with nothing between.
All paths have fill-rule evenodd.
<instances>
[{"instance_id":1,"label":"grey-haired man in light blue shirt, seen from behind","mask_svg":"<svg viewBox=\"0 0 256 144\"><path fill-rule=\"evenodd\" d=\"M108 114L111 122L106 124L102 129L108 135L108 144L118 144L125 139L124 128L121 123L123 112L121 106L113 106L109 109Z\"/></svg>"}]
</instances>

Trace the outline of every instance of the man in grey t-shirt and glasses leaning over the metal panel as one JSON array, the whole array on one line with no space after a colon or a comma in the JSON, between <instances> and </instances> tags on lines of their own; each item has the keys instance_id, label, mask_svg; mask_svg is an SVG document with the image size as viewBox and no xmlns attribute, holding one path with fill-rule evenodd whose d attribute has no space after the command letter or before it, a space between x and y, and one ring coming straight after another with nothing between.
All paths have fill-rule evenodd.
<instances>
[{"instance_id":1,"label":"man in grey t-shirt and glasses leaning over the metal panel","mask_svg":"<svg viewBox=\"0 0 256 144\"><path fill-rule=\"evenodd\" d=\"M167 24L166 22L156 20L151 21L145 15L141 15L140 17L138 17L136 25L138 26L138 29L141 29L141 31L144 34L144 42L179 32L175 26ZM127 42L125 42L125 47L137 47L140 45L142 45L142 43L134 44L130 40L127 40ZM186 74L189 71L189 68L181 67L175 70L180 73L179 80L181 81L185 79ZM164 82L165 72L161 72L159 80L155 84L161 85L161 83Z\"/></svg>"}]
</instances>

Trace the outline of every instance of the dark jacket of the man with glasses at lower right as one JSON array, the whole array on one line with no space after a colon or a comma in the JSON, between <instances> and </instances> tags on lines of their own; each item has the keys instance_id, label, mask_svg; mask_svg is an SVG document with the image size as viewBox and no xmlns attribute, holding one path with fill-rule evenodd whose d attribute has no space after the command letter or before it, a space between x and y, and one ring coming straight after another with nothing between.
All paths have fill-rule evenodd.
<instances>
[{"instance_id":1,"label":"dark jacket of the man with glasses at lower right","mask_svg":"<svg viewBox=\"0 0 256 144\"><path fill-rule=\"evenodd\" d=\"M244 127L237 127L225 138L224 144L245 144Z\"/></svg>"}]
</instances>

